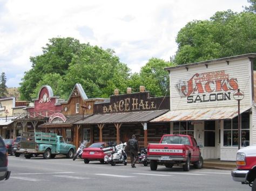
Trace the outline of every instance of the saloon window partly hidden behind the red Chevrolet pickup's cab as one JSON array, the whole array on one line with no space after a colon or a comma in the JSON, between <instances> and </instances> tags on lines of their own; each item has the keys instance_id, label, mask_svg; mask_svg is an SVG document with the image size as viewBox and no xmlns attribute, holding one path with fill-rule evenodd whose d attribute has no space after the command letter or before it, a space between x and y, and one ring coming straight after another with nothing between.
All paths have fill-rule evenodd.
<instances>
[{"instance_id":1,"label":"saloon window partly hidden behind the red Chevrolet pickup's cab","mask_svg":"<svg viewBox=\"0 0 256 191\"><path fill-rule=\"evenodd\" d=\"M191 122L174 122L173 134L194 136L194 125Z\"/></svg>"}]
</instances>

